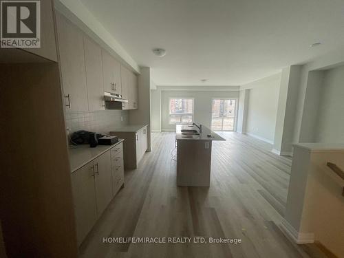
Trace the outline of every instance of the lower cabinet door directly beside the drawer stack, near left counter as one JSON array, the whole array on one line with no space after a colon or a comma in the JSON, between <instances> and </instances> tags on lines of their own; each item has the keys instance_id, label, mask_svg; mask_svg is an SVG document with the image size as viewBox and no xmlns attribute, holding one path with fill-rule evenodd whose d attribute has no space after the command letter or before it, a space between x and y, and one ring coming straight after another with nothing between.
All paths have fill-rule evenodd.
<instances>
[{"instance_id":1,"label":"lower cabinet door directly beside the drawer stack, near left counter","mask_svg":"<svg viewBox=\"0 0 344 258\"><path fill-rule=\"evenodd\" d=\"M112 176L110 151L94 160L96 174L96 197L98 217L103 213L112 198Z\"/></svg>"}]
</instances>

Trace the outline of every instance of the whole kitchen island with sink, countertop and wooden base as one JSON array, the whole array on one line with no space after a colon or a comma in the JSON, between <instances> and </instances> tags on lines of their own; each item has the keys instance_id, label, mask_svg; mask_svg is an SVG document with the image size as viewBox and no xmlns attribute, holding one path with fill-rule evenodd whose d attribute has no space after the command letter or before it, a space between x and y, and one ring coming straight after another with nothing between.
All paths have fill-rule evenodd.
<instances>
[{"instance_id":1,"label":"whole kitchen island with sink, countertop and wooden base","mask_svg":"<svg viewBox=\"0 0 344 258\"><path fill-rule=\"evenodd\" d=\"M212 142L225 139L204 125L176 125L175 140L177 185L210 186Z\"/></svg>"}]
</instances>

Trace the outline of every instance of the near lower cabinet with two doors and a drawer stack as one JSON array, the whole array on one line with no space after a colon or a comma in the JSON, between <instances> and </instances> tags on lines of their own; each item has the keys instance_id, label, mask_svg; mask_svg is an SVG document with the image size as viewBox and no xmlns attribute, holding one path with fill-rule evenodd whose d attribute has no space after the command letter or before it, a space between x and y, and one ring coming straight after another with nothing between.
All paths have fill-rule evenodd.
<instances>
[{"instance_id":1,"label":"near lower cabinet with two doors and a drawer stack","mask_svg":"<svg viewBox=\"0 0 344 258\"><path fill-rule=\"evenodd\" d=\"M78 245L125 182L122 150L120 142L72 173Z\"/></svg>"}]
</instances>

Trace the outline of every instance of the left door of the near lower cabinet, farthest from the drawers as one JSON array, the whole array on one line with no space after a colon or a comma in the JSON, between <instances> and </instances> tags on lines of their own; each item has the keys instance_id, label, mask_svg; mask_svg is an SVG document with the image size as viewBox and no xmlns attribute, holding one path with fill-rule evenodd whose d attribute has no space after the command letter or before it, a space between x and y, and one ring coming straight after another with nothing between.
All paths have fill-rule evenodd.
<instances>
[{"instance_id":1,"label":"left door of the near lower cabinet, farthest from the drawers","mask_svg":"<svg viewBox=\"0 0 344 258\"><path fill-rule=\"evenodd\" d=\"M78 244L85 239L97 219L93 162L72 173L72 191Z\"/></svg>"}]
</instances>

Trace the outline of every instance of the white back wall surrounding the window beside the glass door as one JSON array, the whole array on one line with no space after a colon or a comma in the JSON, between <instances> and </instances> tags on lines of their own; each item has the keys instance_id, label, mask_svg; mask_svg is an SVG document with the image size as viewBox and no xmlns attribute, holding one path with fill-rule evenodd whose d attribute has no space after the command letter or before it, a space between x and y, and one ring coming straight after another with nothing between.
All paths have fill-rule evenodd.
<instances>
[{"instance_id":1,"label":"white back wall surrounding the window beside the glass door","mask_svg":"<svg viewBox=\"0 0 344 258\"><path fill-rule=\"evenodd\" d=\"M238 91L183 91L163 90L161 93L161 127L162 131L175 130L169 125L169 98L194 98L193 120L206 127L211 127L212 98L239 98Z\"/></svg>"}]
</instances>

